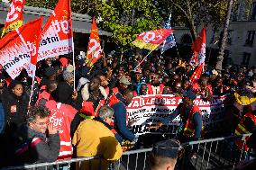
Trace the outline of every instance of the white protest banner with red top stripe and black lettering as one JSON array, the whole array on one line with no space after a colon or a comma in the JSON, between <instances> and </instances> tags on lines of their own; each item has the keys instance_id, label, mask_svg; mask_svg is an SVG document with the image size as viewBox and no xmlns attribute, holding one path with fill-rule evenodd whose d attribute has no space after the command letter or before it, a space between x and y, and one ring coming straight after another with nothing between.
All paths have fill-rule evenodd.
<instances>
[{"instance_id":1,"label":"white protest banner with red top stripe and black lettering","mask_svg":"<svg viewBox=\"0 0 256 170\"><path fill-rule=\"evenodd\" d=\"M159 130L149 130L149 128L168 118L181 101L181 97L167 94L134 97L133 102L127 107L128 121L134 122L131 129L138 135L175 134L179 125L179 116L174 121L164 124ZM224 96L214 96L211 103L199 97L194 101L202 112L206 132L215 130L216 123L223 121L223 101Z\"/></svg>"}]
</instances>

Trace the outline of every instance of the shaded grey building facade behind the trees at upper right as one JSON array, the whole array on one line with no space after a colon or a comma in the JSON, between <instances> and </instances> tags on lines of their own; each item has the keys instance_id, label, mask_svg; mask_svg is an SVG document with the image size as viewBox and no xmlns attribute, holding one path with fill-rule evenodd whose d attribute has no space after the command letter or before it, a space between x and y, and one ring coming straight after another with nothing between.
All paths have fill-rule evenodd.
<instances>
[{"instance_id":1,"label":"shaded grey building facade behind the trees at upper right","mask_svg":"<svg viewBox=\"0 0 256 170\"><path fill-rule=\"evenodd\" d=\"M174 34L178 44L184 44L191 39L190 31L184 27L174 27ZM197 29L200 31L201 29ZM206 28L206 59L215 61L218 44L223 29L214 30L209 23ZM224 62L227 65L245 65L256 67L256 0L248 4L240 0L235 4L230 18L227 46ZM190 40L189 40L190 36Z\"/></svg>"}]
</instances>

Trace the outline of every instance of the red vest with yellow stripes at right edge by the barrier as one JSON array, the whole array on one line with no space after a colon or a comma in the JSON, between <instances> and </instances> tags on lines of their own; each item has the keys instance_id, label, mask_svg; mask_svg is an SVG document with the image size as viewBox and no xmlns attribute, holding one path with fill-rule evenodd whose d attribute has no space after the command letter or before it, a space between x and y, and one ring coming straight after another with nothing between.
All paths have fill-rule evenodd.
<instances>
[{"instance_id":1,"label":"red vest with yellow stripes at right edge by the barrier","mask_svg":"<svg viewBox=\"0 0 256 170\"><path fill-rule=\"evenodd\" d=\"M250 133L249 130L247 130L246 126L243 124L243 121L245 121L245 118L250 118L251 121L254 122L254 125L256 125L256 116L253 115L251 112L247 112L242 120L238 123L236 129L234 130L234 135L242 135L242 134L248 134ZM236 146L240 149L240 150L245 150L245 151L248 151L248 147L246 145L246 141L248 140L249 138L246 137L244 140L242 139L235 139L234 143L236 144Z\"/></svg>"}]
</instances>

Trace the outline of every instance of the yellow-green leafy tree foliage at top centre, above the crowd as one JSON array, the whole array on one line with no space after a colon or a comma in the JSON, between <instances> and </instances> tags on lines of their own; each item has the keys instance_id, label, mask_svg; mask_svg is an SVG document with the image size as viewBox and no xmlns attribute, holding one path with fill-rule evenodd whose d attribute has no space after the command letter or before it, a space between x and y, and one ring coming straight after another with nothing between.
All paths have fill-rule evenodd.
<instances>
[{"instance_id":1,"label":"yellow-green leafy tree foliage at top centre, above the crowd","mask_svg":"<svg viewBox=\"0 0 256 170\"><path fill-rule=\"evenodd\" d=\"M153 0L112 0L96 5L103 19L101 28L113 33L113 41L129 47L137 34L161 27L162 19Z\"/></svg>"}]
</instances>

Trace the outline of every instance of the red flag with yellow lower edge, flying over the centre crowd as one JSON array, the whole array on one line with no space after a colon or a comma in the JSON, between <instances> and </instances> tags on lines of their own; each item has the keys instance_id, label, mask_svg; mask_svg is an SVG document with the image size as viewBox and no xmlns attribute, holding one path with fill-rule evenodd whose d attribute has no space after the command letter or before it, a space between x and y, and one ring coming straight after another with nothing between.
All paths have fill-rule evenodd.
<instances>
[{"instance_id":1,"label":"red flag with yellow lower edge, flying over the centre crowd","mask_svg":"<svg viewBox=\"0 0 256 170\"><path fill-rule=\"evenodd\" d=\"M140 49L157 49L159 45L168 38L171 32L170 29L142 32L137 39L133 41L133 45Z\"/></svg>"}]
</instances>

